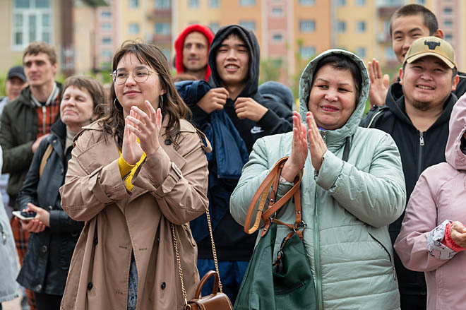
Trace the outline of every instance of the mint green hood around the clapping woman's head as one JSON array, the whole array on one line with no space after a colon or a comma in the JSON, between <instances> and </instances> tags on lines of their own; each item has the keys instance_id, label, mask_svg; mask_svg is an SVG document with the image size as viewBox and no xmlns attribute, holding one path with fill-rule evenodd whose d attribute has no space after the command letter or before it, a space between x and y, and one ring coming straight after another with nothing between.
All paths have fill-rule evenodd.
<instances>
[{"instance_id":1,"label":"mint green hood around the clapping woman's head","mask_svg":"<svg viewBox=\"0 0 466 310\"><path fill-rule=\"evenodd\" d=\"M304 68L301 78L299 79L299 114L301 115L301 119L304 120L306 118L306 112L308 112L306 98L309 97L309 85L312 84L312 76L318 61L331 54L343 54L349 56L349 58L357 64L362 74L362 88L359 93L356 109L354 109L354 112L351 117L349 117L347 123L340 129L326 131L326 141L328 144L342 141L347 136L353 135L359 126L359 121L362 119L364 109L366 107L366 100L369 96L369 73L367 72L366 65L364 65L364 61L352 52L347 52L343 49L328 49L309 62L306 68Z\"/></svg>"}]
</instances>

